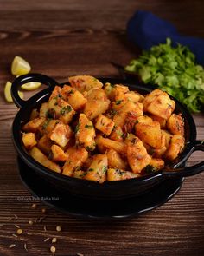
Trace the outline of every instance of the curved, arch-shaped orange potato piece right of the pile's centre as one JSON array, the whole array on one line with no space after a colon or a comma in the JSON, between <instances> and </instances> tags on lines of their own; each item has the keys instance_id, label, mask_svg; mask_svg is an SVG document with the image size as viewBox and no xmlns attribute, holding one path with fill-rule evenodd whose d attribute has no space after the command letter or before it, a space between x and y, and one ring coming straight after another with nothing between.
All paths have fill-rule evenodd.
<instances>
[{"instance_id":1,"label":"curved, arch-shaped orange potato piece right of the pile's centre","mask_svg":"<svg viewBox=\"0 0 204 256\"><path fill-rule=\"evenodd\" d=\"M126 116L129 112L134 112L137 116L143 115L143 108L141 108L141 105L138 103L126 102L124 106L118 110L118 113L113 117L115 125L123 128Z\"/></svg>"}]
</instances>

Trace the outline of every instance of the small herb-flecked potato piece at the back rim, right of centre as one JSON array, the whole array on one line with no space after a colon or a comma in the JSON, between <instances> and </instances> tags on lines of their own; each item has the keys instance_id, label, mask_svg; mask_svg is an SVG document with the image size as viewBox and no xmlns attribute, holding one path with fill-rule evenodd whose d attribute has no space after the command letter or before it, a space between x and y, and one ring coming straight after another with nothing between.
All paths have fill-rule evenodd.
<instances>
[{"instance_id":1,"label":"small herb-flecked potato piece at the back rim, right of centre","mask_svg":"<svg viewBox=\"0 0 204 256\"><path fill-rule=\"evenodd\" d=\"M129 91L129 88L127 86L124 86L123 84L112 84L110 82L106 82L104 90L108 98L111 101L115 101L115 97L118 92L126 93Z\"/></svg>"}]
</instances>

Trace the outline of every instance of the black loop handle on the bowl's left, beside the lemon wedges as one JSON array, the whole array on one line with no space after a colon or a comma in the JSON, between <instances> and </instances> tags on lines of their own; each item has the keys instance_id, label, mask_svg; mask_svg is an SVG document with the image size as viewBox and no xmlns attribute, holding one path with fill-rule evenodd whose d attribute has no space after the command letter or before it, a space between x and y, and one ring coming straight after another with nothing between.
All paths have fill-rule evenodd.
<instances>
[{"instance_id":1,"label":"black loop handle on the bowl's left, beside the lemon wedges","mask_svg":"<svg viewBox=\"0 0 204 256\"><path fill-rule=\"evenodd\" d=\"M41 75L41 74L28 74L28 75L21 75L17 77L14 82L12 82L12 86L10 89L11 96L13 98L13 101L15 102L16 106L18 108L22 108L23 105L27 102L22 100L18 95L18 89L22 84L27 82L41 82L45 85L48 85L48 87L53 90L54 86L58 83L54 81L53 78L47 76L47 75Z\"/></svg>"}]
</instances>

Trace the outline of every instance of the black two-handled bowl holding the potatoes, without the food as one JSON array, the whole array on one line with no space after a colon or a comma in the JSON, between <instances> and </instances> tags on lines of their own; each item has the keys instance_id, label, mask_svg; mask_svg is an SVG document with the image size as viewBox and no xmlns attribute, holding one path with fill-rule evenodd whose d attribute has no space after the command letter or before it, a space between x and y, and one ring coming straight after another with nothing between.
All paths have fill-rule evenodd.
<instances>
[{"instance_id":1,"label":"black two-handled bowl holding the potatoes, without the food","mask_svg":"<svg viewBox=\"0 0 204 256\"><path fill-rule=\"evenodd\" d=\"M121 79L101 78L100 81L103 83L123 83L130 89L137 90L144 94L150 93L151 90L155 89L153 87L144 87ZM48 85L48 89L43 89L41 92L29 98L29 100L23 101L19 97L17 91L19 87L26 82L41 82ZM58 84L54 79L46 75L29 74L16 78L11 87L12 98L16 103L16 106L20 108L12 126L12 136L17 154L19 154L22 161L24 161L36 174L40 175L42 179L49 181L49 183L60 192L63 193L67 191L68 193L88 199L122 199L146 193L151 187L156 186L164 179L186 177L199 174L204 170L204 161L201 161L192 167L183 167L185 162L188 160L188 157L194 151L204 151L204 145L202 145L201 141L196 141L196 127L192 115L190 115L187 108L183 107L182 104L173 97L171 98L174 99L176 103L175 112L182 113L182 117L185 121L186 145L182 154L162 170L131 180L105 181L103 184L99 184L95 181L80 180L62 174L57 174L49 170L47 167L42 166L39 162L29 156L22 145L22 125L29 121L29 115L33 108L39 108L42 102L48 101L48 97L54 89L54 86L63 86L63 84Z\"/></svg>"}]
</instances>

